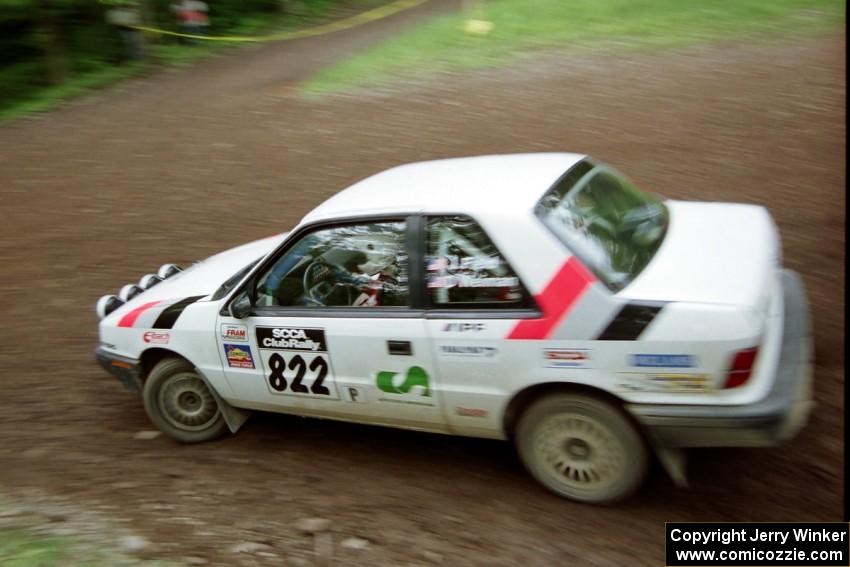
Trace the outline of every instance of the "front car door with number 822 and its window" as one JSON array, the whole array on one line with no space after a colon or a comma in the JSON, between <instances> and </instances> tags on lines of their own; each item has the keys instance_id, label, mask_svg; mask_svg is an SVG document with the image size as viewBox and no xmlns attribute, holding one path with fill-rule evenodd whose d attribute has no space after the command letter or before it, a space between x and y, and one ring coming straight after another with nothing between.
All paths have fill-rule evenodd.
<instances>
[{"instance_id":1,"label":"front car door with number 822 and its window","mask_svg":"<svg viewBox=\"0 0 850 567\"><path fill-rule=\"evenodd\" d=\"M411 308L409 224L314 226L264 262L243 292L253 297L251 314L219 320L237 403L445 428L423 312Z\"/></svg>"}]
</instances>

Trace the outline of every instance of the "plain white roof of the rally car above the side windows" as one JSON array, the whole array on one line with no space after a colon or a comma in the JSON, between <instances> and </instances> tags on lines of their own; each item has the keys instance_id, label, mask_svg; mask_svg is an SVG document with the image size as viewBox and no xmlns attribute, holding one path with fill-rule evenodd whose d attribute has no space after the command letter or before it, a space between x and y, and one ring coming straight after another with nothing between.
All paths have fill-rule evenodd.
<instances>
[{"instance_id":1,"label":"plain white roof of the rally car above the side windows","mask_svg":"<svg viewBox=\"0 0 850 567\"><path fill-rule=\"evenodd\" d=\"M313 209L302 223L384 213L531 210L583 154L528 153L423 161L382 171Z\"/></svg>"}]
</instances>

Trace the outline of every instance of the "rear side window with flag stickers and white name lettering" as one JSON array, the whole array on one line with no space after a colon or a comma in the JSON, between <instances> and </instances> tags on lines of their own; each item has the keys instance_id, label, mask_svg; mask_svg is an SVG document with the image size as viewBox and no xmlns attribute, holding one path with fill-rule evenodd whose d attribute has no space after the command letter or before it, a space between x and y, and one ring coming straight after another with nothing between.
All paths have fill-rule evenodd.
<instances>
[{"instance_id":1,"label":"rear side window with flag stickers and white name lettering","mask_svg":"<svg viewBox=\"0 0 850 567\"><path fill-rule=\"evenodd\" d=\"M516 272L469 217L428 219L425 262L433 307L516 309L529 305Z\"/></svg>"}]
</instances>

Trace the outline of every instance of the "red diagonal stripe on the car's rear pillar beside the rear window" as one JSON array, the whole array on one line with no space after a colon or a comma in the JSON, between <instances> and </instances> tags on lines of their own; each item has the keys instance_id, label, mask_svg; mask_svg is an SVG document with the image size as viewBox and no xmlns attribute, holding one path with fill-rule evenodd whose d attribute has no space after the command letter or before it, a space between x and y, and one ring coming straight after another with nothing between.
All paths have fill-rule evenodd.
<instances>
[{"instance_id":1,"label":"red diagonal stripe on the car's rear pillar beside the rear window","mask_svg":"<svg viewBox=\"0 0 850 567\"><path fill-rule=\"evenodd\" d=\"M543 317L520 321L508 335L509 339L545 339L563 319L579 297L596 281L575 256L567 260L555 277L539 294L537 304Z\"/></svg>"}]
</instances>

